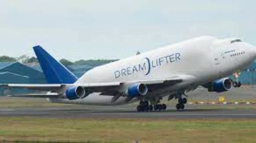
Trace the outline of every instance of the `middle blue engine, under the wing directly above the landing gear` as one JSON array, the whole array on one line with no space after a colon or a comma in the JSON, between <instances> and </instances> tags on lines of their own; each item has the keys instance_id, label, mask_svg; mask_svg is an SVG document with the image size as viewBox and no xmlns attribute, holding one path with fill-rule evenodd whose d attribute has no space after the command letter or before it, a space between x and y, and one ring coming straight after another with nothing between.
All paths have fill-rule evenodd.
<instances>
[{"instance_id":1,"label":"middle blue engine, under the wing directly above the landing gear","mask_svg":"<svg viewBox=\"0 0 256 143\"><path fill-rule=\"evenodd\" d=\"M142 83L135 83L127 88L126 95L129 97L145 96L148 93L148 87Z\"/></svg>"}]
</instances>

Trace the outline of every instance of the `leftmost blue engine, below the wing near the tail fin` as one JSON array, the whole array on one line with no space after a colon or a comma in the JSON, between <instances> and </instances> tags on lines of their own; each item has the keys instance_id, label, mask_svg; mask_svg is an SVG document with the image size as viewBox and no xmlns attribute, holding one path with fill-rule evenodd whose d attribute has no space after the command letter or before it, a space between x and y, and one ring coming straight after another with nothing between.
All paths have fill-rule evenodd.
<instances>
[{"instance_id":1,"label":"leftmost blue engine, below the wing near the tail fin","mask_svg":"<svg viewBox=\"0 0 256 143\"><path fill-rule=\"evenodd\" d=\"M66 89L66 98L69 100L79 99L85 96L85 89L82 86L73 86Z\"/></svg>"}]
</instances>

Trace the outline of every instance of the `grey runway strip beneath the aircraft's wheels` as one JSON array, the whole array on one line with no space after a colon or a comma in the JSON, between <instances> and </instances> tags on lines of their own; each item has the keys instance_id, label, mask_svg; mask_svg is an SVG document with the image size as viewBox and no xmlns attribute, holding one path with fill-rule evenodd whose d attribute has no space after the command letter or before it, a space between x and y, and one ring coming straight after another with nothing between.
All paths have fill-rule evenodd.
<instances>
[{"instance_id":1,"label":"grey runway strip beneath the aircraft's wheels","mask_svg":"<svg viewBox=\"0 0 256 143\"><path fill-rule=\"evenodd\" d=\"M138 113L133 106L65 106L45 108L1 108L0 116L62 117L62 118L168 118L168 119L256 119L255 108L209 108L187 106L186 110Z\"/></svg>"}]
</instances>

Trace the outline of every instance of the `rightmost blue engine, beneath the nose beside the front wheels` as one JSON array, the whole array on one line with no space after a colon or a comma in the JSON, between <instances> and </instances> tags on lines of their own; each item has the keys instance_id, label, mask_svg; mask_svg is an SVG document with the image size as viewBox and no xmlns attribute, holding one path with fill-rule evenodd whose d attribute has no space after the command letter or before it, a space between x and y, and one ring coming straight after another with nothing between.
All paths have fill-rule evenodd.
<instances>
[{"instance_id":1,"label":"rightmost blue engine, beneath the nose beside the front wheels","mask_svg":"<svg viewBox=\"0 0 256 143\"><path fill-rule=\"evenodd\" d=\"M210 87L208 87L208 91L212 92L224 92L229 91L232 88L232 80L230 78L221 78L212 82Z\"/></svg>"}]
</instances>

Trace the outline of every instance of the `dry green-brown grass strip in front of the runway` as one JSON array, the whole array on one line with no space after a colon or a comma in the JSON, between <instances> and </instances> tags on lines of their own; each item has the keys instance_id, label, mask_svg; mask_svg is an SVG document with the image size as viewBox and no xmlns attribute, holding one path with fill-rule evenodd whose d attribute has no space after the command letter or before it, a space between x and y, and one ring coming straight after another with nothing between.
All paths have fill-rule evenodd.
<instances>
[{"instance_id":1,"label":"dry green-brown grass strip in front of the runway","mask_svg":"<svg viewBox=\"0 0 256 143\"><path fill-rule=\"evenodd\" d=\"M1 117L0 141L255 142L256 120Z\"/></svg>"}]
</instances>

